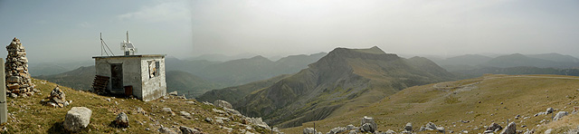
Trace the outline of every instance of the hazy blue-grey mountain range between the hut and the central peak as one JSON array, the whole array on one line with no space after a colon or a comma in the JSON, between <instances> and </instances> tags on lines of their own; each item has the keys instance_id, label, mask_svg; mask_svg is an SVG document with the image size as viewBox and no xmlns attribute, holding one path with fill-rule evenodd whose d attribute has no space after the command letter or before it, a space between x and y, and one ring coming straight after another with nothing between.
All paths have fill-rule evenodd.
<instances>
[{"instance_id":1,"label":"hazy blue-grey mountain range between the hut and the central peak","mask_svg":"<svg viewBox=\"0 0 579 134\"><path fill-rule=\"evenodd\" d=\"M299 70L307 68L309 63L318 61L319 58L326 54L290 55L276 62L272 62L263 56L228 62L186 61L167 58L166 70L190 72L207 81L223 86L235 86L269 79L280 74L299 72Z\"/></svg>"}]
</instances>

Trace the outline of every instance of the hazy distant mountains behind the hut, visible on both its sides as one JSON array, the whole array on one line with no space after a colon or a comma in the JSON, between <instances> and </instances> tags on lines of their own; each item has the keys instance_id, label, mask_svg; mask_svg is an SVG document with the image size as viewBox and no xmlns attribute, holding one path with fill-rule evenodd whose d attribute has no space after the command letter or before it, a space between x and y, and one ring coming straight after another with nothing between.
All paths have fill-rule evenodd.
<instances>
[{"instance_id":1,"label":"hazy distant mountains behind the hut, visible on both its sides","mask_svg":"<svg viewBox=\"0 0 579 134\"><path fill-rule=\"evenodd\" d=\"M324 55L326 53L290 55L276 62L262 56L228 62L187 61L166 57L167 91L178 91L179 94L185 94L188 98L195 98L205 91L266 80L280 74L299 72L299 70L307 68L309 63L318 61ZM94 62L92 63L94 64ZM44 67L45 69L42 71L49 72L48 68L58 68L69 64L53 63L37 67ZM34 76L34 78L88 91L91 88L94 75L94 65L91 65L68 72L44 73L40 76Z\"/></svg>"}]
</instances>

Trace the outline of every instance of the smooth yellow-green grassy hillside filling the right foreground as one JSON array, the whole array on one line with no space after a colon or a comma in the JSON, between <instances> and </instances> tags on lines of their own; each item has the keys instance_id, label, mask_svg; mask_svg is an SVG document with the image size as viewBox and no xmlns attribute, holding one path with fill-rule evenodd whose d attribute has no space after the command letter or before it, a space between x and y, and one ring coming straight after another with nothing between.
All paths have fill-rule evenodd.
<instances>
[{"instance_id":1,"label":"smooth yellow-green grassy hillside filling the right foreground","mask_svg":"<svg viewBox=\"0 0 579 134\"><path fill-rule=\"evenodd\" d=\"M326 132L348 124L359 126L361 117L370 116L375 118L381 131L401 131L407 122L413 123L413 129L419 129L433 122L455 132L468 130L469 133L482 133L484 126L493 121L506 127L509 120L517 122L517 129L539 129L543 132L555 128L562 132L576 128L579 123L573 120L579 120L579 117L569 116L565 117L568 120L545 124L541 120L550 120L551 115L534 115L547 108L571 112L579 106L578 90L579 77L573 76L485 75L476 79L414 86L368 107L315 122L317 129ZM521 118L515 119L517 115ZM298 133L305 127L313 126L313 122L303 125L283 130ZM526 128L521 128L523 125Z\"/></svg>"}]
</instances>

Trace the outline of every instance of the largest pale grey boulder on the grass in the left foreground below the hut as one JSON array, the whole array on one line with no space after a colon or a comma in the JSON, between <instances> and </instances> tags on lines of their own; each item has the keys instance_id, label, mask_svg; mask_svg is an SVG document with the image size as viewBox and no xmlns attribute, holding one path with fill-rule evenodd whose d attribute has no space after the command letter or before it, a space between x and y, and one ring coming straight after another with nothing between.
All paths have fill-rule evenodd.
<instances>
[{"instance_id":1,"label":"largest pale grey boulder on the grass in the left foreground below the hut","mask_svg":"<svg viewBox=\"0 0 579 134\"><path fill-rule=\"evenodd\" d=\"M72 107L66 113L64 118L63 126L64 129L75 132L81 129L87 128L90 123L90 116L92 115L92 110L85 107Z\"/></svg>"}]
</instances>

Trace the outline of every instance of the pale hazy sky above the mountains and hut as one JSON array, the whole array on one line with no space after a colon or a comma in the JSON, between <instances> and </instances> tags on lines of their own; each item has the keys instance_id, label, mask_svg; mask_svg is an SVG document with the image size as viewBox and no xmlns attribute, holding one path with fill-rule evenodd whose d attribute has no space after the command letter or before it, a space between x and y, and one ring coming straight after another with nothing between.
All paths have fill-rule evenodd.
<instances>
[{"instance_id":1,"label":"pale hazy sky above the mountains and hut","mask_svg":"<svg viewBox=\"0 0 579 134\"><path fill-rule=\"evenodd\" d=\"M379 46L387 53L564 53L579 57L577 0L0 0L0 44L31 62L115 54L265 56ZM6 52L0 51L5 57Z\"/></svg>"}]
</instances>

